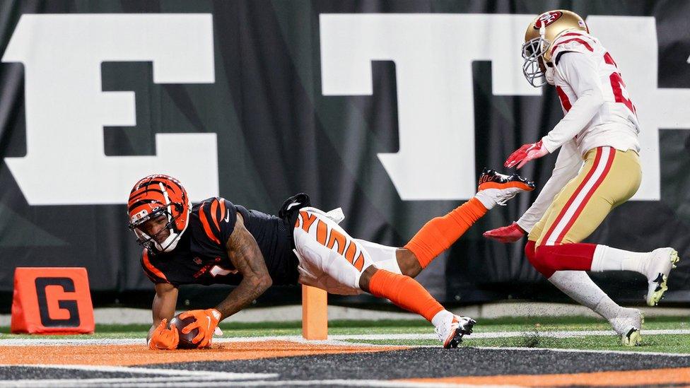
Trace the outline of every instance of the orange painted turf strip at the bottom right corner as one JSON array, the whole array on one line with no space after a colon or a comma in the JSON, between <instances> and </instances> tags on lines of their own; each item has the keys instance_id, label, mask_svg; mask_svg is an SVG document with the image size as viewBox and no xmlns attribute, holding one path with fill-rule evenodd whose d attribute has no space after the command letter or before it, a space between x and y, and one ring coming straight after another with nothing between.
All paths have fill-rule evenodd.
<instances>
[{"instance_id":1,"label":"orange painted turf strip at the bottom right corner","mask_svg":"<svg viewBox=\"0 0 690 388\"><path fill-rule=\"evenodd\" d=\"M475 385L520 385L522 387L566 387L571 385L612 387L623 385L689 384L690 368L616 370L612 372L563 373L558 375L440 377L438 379L404 379L399 381Z\"/></svg>"}]
</instances>

